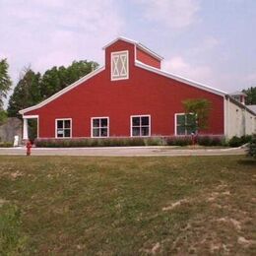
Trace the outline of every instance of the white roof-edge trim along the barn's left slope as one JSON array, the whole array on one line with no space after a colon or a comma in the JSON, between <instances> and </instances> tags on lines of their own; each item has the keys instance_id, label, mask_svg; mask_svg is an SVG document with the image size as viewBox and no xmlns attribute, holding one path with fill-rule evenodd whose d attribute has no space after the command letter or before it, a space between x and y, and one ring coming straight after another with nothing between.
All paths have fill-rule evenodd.
<instances>
[{"instance_id":1,"label":"white roof-edge trim along the barn's left slope","mask_svg":"<svg viewBox=\"0 0 256 256\"><path fill-rule=\"evenodd\" d=\"M59 91L58 93L56 93L53 96L50 96L48 98L46 98L45 100L41 101L40 103L30 106L28 108L22 109L19 111L20 114L25 114L26 112L32 111L34 109L37 109L49 102L51 102L52 100L56 99L59 96L62 96L64 94L66 94L67 92L69 92L70 90L74 89L75 87L81 85L82 83L86 82L87 80L91 79L92 77L96 76L98 73L100 73L101 71L103 71L105 69L104 66L96 69L95 71L92 71L91 73L89 73L88 75L86 75L85 77L79 79L78 81L76 81L75 83L71 84L70 86L62 89L61 91Z\"/></svg>"}]
</instances>

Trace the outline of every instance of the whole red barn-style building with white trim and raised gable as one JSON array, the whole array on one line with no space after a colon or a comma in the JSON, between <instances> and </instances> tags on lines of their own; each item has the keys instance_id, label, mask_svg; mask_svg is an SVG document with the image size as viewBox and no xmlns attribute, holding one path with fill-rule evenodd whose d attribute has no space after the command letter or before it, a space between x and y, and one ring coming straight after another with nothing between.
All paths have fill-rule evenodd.
<instances>
[{"instance_id":1,"label":"whole red barn-style building with white trim and raised gable","mask_svg":"<svg viewBox=\"0 0 256 256\"><path fill-rule=\"evenodd\" d=\"M232 128L237 126L232 105L249 118L241 135L255 132L255 113L244 104L222 91L162 71L162 57L143 44L118 37L103 49L104 66L20 111L24 139L28 139L30 118L37 119L38 138L187 135L191 131L184 125L182 101L188 98L212 102L206 134L239 135Z\"/></svg>"}]
</instances>

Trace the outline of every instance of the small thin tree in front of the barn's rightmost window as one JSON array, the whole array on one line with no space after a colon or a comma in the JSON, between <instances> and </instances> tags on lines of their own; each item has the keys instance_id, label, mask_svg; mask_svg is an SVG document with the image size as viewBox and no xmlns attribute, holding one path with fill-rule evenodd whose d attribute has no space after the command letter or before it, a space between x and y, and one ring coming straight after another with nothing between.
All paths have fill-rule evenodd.
<instances>
[{"instance_id":1,"label":"small thin tree in front of the barn's rightmost window","mask_svg":"<svg viewBox=\"0 0 256 256\"><path fill-rule=\"evenodd\" d=\"M189 128L195 132L208 128L209 115L212 103L206 98L192 98L182 101Z\"/></svg>"}]
</instances>

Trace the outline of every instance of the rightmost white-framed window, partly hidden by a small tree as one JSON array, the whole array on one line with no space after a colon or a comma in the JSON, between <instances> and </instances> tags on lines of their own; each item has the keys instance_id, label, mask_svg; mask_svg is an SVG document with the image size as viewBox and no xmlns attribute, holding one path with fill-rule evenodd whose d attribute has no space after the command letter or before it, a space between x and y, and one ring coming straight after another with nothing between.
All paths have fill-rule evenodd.
<instances>
[{"instance_id":1,"label":"rightmost white-framed window, partly hidden by a small tree","mask_svg":"<svg viewBox=\"0 0 256 256\"><path fill-rule=\"evenodd\" d=\"M194 114L176 114L176 135L195 133L196 119Z\"/></svg>"}]
</instances>

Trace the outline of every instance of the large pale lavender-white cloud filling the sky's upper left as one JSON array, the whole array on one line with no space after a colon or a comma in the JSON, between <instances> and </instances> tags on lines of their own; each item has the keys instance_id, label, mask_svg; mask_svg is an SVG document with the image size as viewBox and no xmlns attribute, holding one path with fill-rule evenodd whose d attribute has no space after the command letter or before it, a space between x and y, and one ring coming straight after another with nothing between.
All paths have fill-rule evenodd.
<instances>
[{"instance_id":1,"label":"large pale lavender-white cloud filling the sky's upper left","mask_svg":"<svg viewBox=\"0 0 256 256\"><path fill-rule=\"evenodd\" d=\"M102 45L124 25L114 0L2 0L0 5L1 51L9 53L12 70L28 63L43 72L74 59L102 62Z\"/></svg>"}]
</instances>

